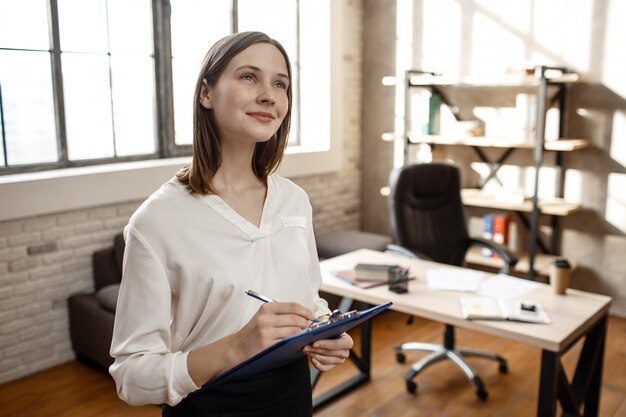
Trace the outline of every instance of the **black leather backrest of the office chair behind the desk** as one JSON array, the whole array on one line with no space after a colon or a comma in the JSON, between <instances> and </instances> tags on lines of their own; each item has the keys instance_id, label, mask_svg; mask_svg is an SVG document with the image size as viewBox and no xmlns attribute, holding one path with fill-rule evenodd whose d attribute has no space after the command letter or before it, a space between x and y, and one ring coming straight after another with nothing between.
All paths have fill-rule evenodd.
<instances>
[{"instance_id":1,"label":"black leather backrest of the office chair behind the desk","mask_svg":"<svg viewBox=\"0 0 626 417\"><path fill-rule=\"evenodd\" d=\"M389 176L394 241L436 262L462 265L469 247L459 169L447 163L407 165Z\"/></svg>"}]
</instances>

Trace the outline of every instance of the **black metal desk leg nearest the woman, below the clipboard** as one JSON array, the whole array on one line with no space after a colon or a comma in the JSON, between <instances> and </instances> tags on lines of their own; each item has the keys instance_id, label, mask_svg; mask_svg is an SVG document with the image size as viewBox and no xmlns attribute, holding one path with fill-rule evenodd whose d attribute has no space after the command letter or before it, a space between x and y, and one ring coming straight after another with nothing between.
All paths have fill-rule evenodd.
<instances>
[{"instance_id":1,"label":"black metal desk leg nearest the woman, below the clipboard","mask_svg":"<svg viewBox=\"0 0 626 417\"><path fill-rule=\"evenodd\" d=\"M339 304L341 311L348 311L352 306L352 299L343 298ZM338 398L359 385L370 380L371 370L371 337L372 327L371 320L366 320L360 327L361 333L361 356L357 356L354 351L350 351L350 361L358 368L359 373L341 384L330 388L329 390L319 394L313 398L313 408L321 407L327 402ZM315 385L321 376L320 371L311 367L311 386L315 389Z\"/></svg>"}]
</instances>

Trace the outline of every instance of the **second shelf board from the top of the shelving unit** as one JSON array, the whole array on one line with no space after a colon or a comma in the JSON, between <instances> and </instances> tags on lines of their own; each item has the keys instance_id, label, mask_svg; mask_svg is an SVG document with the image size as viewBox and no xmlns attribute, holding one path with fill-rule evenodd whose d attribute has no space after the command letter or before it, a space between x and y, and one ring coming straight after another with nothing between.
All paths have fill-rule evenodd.
<instances>
[{"instance_id":1,"label":"second shelf board from the top of the shelving unit","mask_svg":"<svg viewBox=\"0 0 626 417\"><path fill-rule=\"evenodd\" d=\"M383 140L391 140L393 133L384 133ZM429 145L459 145L459 146L479 146L484 148L519 148L533 149L534 143L523 142L519 140L511 140L507 138L494 138L486 136L439 136L439 135L414 135L409 133L409 141L412 144L429 144ZM547 151L574 151L589 146L586 139L558 139L555 141L544 142L544 149Z\"/></svg>"}]
</instances>

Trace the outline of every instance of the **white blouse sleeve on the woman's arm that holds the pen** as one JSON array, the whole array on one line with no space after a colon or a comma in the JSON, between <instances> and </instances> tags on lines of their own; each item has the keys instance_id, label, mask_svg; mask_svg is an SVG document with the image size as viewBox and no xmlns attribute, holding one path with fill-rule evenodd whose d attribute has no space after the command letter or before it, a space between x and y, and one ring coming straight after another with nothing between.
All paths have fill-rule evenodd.
<instances>
[{"instance_id":1,"label":"white blouse sleeve on the woman's arm that holds the pen","mask_svg":"<svg viewBox=\"0 0 626 417\"><path fill-rule=\"evenodd\" d=\"M118 395L131 405L175 405L198 387L187 370L187 353L171 351L170 285L154 251L130 226L125 239L110 373Z\"/></svg>"}]
</instances>

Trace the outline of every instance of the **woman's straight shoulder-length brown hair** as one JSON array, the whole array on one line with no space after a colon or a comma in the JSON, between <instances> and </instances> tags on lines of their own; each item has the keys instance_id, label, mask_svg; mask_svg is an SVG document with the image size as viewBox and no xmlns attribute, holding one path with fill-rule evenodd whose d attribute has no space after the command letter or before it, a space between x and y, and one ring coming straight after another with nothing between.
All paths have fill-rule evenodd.
<instances>
[{"instance_id":1,"label":"woman's straight shoulder-length brown hair","mask_svg":"<svg viewBox=\"0 0 626 417\"><path fill-rule=\"evenodd\" d=\"M193 95L193 157L191 163L181 168L176 174L180 182L193 194L213 194L212 180L222 164L222 148L217 136L213 111L200 104L200 92L203 80L211 86L217 83L220 75L230 60L257 43L274 45L285 58L287 72L291 79L291 64L285 48L276 40L262 32L239 32L217 41L207 52L202 61L202 70ZM257 142L252 157L252 170L264 183L267 177L276 171L287 147L287 136L291 124L291 83L287 88L289 105L287 113L278 131L265 142Z\"/></svg>"}]
</instances>

